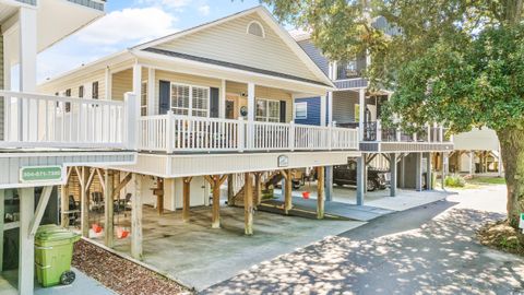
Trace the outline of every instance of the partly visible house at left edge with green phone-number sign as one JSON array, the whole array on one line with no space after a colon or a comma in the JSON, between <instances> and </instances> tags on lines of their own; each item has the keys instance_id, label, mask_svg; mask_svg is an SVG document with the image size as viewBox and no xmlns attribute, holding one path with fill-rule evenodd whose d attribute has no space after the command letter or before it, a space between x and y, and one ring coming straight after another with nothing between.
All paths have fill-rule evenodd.
<instances>
[{"instance_id":1,"label":"partly visible house at left edge with green phone-number sign","mask_svg":"<svg viewBox=\"0 0 524 295\"><path fill-rule=\"evenodd\" d=\"M66 109L99 116L108 104L95 108L88 101L35 94L37 54L104 15L104 8L105 1L95 0L0 1L0 272L19 269L19 294L33 294L35 232L40 222L58 222L53 188L66 181L67 167L134 162L123 137L64 132ZM11 75L14 66L19 76ZM123 103L110 107L127 113ZM75 123L79 130L96 127ZM123 121L110 126L126 131Z\"/></svg>"}]
</instances>

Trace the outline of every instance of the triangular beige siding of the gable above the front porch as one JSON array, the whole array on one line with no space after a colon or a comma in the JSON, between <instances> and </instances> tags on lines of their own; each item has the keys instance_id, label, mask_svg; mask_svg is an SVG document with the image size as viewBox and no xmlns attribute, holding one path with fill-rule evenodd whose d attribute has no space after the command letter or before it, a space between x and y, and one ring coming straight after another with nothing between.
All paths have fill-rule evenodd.
<instances>
[{"instance_id":1,"label":"triangular beige siding of the gable above the front porch","mask_svg":"<svg viewBox=\"0 0 524 295\"><path fill-rule=\"evenodd\" d=\"M251 21L262 24L265 38L247 34ZM318 80L255 13L157 45L156 48Z\"/></svg>"}]
</instances>

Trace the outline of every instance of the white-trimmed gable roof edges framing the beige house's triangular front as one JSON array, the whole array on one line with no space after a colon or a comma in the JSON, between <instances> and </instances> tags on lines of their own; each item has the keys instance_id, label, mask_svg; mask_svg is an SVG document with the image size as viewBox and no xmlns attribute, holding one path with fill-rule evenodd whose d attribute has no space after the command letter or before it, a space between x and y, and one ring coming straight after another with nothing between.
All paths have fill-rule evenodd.
<instances>
[{"instance_id":1,"label":"white-trimmed gable roof edges framing the beige house's triangular front","mask_svg":"<svg viewBox=\"0 0 524 295\"><path fill-rule=\"evenodd\" d=\"M226 17L222 17L222 19L218 19L216 21L213 21L213 22L209 22L209 23L205 23L205 24L202 24L202 25L199 25L199 26L195 26L195 27L192 27L192 28L188 28L188 30L184 30L184 31L180 31L180 32L177 32L175 34L171 34L171 35L168 35L168 36L165 36L165 37L162 37L162 38L157 38L157 39L154 39L154 40L151 40L151 42L147 42L147 43L144 43L144 44L141 44L141 45L138 45L138 46L134 46L134 47L131 47L130 50L131 51L150 51L150 52L155 52L155 54L160 54L157 51L157 49L155 50L152 50L153 48L152 47L155 47L157 45L160 45L160 44L165 44L165 43L169 43L169 42L172 42L172 40L176 40L178 38L181 38L181 37L184 37L184 36L188 36L188 35L191 35L191 34L195 34L198 32L201 32L203 30L206 30L206 28L210 28L210 27L213 27L213 26L217 26L219 24L223 24L225 22L229 22L229 21L233 21L233 20L236 20L236 19L239 19L239 17L242 17L245 15L248 15L248 14L251 14L251 13L257 13L260 17L262 17L262 20L264 20L269 25L270 27L278 35L278 37L285 43L285 45L299 58L299 60L301 62L303 62L303 64L306 66L306 68L312 73L314 74L314 76L318 79L317 81L312 81L311 79L303 79L303 78L299 78L302 82L308 82L308 83L314 83L314 84L320 84L320 85L326 85L326 86L331 86L333 87L333 83L332 81L324 74L324 72L311 60L311 58L303 51L303 49L297 44L297 42L289 35L289 33L284 30L279 24L278 22L276 21L276 19L271 14L270 11L267 11L267 9L265 9L264 7L262 5L259 5L259 7L255 7L255 8L252 8L252 9L248 9L248 10L245 10L245 11L241 11L241 12L238 12L238 13L235 13L235 14L231 14L229 16L226 16ZM187 54L181 54L181 52L174 52L171 50L163 50L164 55L167 55L167 56L174 56L176 55L177 57L181 57L180 55L183 55L183 56L190 56L190 55L187 55ZM195 57L198 58L198 57ZM202 59L202 57L200 57L199 59ZM205 59L205 58L203 58ZM211 60L199 60L199 61L202 61L202 62L210 62ZM217 61L217 60L213 60L213 61ZM221 61L217 61L217 62L221 62ZM214 62L215 64L217 64L216 62ZM241 64L234 64L234 63L228 63L228 62L224 62L225 64L218 64L218 66L224 66L224 67L229 67L229 68L237 68L239 69L238 67L243 67ZM226 64L227 63L227 64ZM237 67L238 66L238 67ZM248 70L247 68L250 68L249 71L253 71L253 70L257 70L258 72L261 72L261 71L265 71L265 72L271 72L271 71L267 71L267 70L264 70L264 69L252 69L251 67L243 67L246 68L245 70ZM267 73L266 73L267 74ZM296 75L288 75L288 74L285 74L285 73L276 73L276 72L273 72L272 75L277 75L277 76L282 76L282 78L294 78L294 80L297 80ZM284 76L284 75L288 75L288 76Z\"/></svg>"}]
</instances>

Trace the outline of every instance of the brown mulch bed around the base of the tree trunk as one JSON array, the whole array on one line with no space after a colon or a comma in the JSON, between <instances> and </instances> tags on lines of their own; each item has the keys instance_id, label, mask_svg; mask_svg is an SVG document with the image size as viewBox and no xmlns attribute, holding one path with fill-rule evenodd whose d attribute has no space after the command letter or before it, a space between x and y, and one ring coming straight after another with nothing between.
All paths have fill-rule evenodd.
<instances>
[{"instance_id":1,"label":"brown mulch bed around the base of the tree trunk","mask_svg":"<svg viewBox=\"0 0 524 295\"><path fill-rule=\"evenodd\" d=\"M519 240L521 236L521 240ZM508 221L498 221L484 225L477 232L480 244L510 253L524 256L524 239Z\"/></svg>"}]
</instances>

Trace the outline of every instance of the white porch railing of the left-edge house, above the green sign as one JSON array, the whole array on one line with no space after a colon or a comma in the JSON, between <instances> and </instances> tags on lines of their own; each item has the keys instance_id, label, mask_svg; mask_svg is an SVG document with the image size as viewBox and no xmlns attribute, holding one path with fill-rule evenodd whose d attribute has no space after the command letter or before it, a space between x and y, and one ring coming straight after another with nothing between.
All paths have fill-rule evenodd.
<instances>
[{"instance_id":1,"label":"white porch railing of the left-edge house, above the green sign","mask_svg":"<svg viewBox=\"0 0 524 295\"><path fill-rule=\"evenodd\" d=\"M133 95L115 102L0 91L0 148L133 148Z\"/></svg>"}]
</instances>

